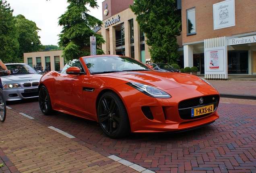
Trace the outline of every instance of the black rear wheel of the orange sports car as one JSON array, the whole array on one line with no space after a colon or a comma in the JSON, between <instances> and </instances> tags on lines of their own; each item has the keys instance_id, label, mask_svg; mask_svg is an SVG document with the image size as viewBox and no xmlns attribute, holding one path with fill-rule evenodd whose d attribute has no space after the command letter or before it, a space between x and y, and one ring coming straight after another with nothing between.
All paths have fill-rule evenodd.
<instances>
[{"instance_id":1,"label":"black rear wheel of the orange sports car","mask_svg":"<svg viewBox=\"0 0 256 173\"><path fill-rule=\"evenodd\" d=\"M56 111L52 109L51 99L45 86L39 90L39 107L44 115L56 114Z\"/></svg>"}]
</instances>

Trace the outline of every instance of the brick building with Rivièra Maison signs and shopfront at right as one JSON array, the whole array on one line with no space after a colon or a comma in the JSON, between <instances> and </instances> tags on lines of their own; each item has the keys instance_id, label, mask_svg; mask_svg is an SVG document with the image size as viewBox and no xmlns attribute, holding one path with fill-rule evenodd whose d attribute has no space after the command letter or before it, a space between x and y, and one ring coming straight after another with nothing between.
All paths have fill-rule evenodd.
<instances>
[{"instance_id":1,"label":"brick building with Rivi\u00e8ra Maison signs and shopfront at right","mask_svg":"<svg viewBox=\"0 0 256 173\"><path fill-rule=\"evenodd\" d=\"M218 69L219 74L221 70L226 74L256 74L255 16L254 0L182 0L184 66L198 66L200 74L205 74L209 66L205 63L209 58L204 57L205 44L217 44L212 50L219 50L220 38L224 38L224 61L219 64L225 66Z\"/></svg>"}]
</instances>

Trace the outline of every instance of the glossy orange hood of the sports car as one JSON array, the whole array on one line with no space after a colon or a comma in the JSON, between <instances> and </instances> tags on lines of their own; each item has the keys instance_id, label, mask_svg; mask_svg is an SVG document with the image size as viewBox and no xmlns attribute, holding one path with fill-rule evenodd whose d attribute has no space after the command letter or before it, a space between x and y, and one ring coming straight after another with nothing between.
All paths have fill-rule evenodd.
<instances>
[{"instance_id":1,"label":"glossy orange hood of the sports car","mask_svg":"<svg viewBox=\"0 0 256 173\"><path fill-rule=\"evenodd\" d=\"M115 79L124 80L126 82L138 82L157 87L162 90L180 88L190 85L208 85L201 78L186 73L169 73L157 71L141 71L141 72L117 72L105 74Z\"/></svg>"}]
</instances>

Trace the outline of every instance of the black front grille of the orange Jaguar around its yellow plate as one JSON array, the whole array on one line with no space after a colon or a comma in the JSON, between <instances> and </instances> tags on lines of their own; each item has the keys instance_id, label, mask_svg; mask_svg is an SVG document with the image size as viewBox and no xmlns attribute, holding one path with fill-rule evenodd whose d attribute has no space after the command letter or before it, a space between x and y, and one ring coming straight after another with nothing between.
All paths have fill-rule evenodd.
<instances>
[{"instance_id":1,"label":"black front grille of the orange Jaguar around its yellow plate","mask_svg":"<svg viewBox=\"0 0 256 173\"><path fill-rule=\"evenodd\" d=\"M201 98L204 100L202 104L200 104ZM197 97L197 98L181 101L178 105L180 118L188 120L188 119L196 119L196 118L201 118L201 117L210 115L211 113L200 115L197 117L191 117L191 109L197 108L197 107L203 107L207 105L213 105L214 111L216 111L219 105L219 95Z\"/></svg>"}]
</instances>

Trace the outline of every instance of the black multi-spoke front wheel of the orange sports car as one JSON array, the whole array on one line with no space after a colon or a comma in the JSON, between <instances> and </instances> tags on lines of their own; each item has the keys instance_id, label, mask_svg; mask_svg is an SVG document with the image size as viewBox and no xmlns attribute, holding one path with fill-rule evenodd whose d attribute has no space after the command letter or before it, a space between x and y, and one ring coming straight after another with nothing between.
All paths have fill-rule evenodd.
<instances>
[{"instance_id":1,"label":"black multi-spoke front wheel of the orange sports car","mask_svg":"<svg viewBox=\"0 0 256 173\"><path fill-rule=\"evenodd\" d=\"M130 133L126 108L114 92L106 92L101 96L97 117L102 130L110 138L120 138Z\"/></svg>"}]
</instances>

